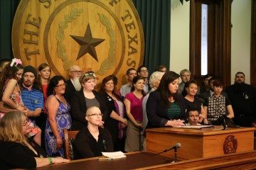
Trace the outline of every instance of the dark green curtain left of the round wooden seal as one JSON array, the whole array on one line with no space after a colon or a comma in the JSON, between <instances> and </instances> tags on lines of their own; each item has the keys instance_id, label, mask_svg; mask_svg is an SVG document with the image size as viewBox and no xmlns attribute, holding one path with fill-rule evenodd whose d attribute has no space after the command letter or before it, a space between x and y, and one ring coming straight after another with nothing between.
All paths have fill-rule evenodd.
<instances>
[{"instance_id":1,"label":"dark green curtain left of the round wooden seal","mask_svg":"<svg viewBox=\"0 0 256 170\"><path fill-rule=\"evenodd\" d=\"M12 58L11 26L19 0L0 0L0 59Z\"/></svg>"}]
</instances>

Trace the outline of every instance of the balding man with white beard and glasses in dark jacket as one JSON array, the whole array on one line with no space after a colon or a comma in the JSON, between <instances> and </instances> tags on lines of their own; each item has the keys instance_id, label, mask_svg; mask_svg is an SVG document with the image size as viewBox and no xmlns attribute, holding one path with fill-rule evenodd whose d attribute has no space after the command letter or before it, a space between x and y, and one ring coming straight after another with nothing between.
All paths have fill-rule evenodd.
<instances>
[{"instance_id":1,"label":"balding man with white beard and glasses in dark jacket","mask_svg":"<svg viewBox=\"0 0 256 170\"><path fill-rule=\"evenodd\" d=\"M70 79L66 81L65 99L70 102L70 98L75 91L80 91L81 84L79 81L80 75L82 74L81 68L78 65L73 65L68 70Z\"/></svg>"}]
</instances>

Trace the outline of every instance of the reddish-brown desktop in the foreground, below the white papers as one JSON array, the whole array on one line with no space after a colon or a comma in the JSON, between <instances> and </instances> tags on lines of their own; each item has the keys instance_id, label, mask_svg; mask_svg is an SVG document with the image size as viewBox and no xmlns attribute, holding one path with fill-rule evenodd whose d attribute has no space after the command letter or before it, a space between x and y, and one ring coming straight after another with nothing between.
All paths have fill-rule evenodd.
<instances>
[{"instance_id":1,"label":"reddish-brown desktop in the foreground, below the white papers","mask_svg":"<svg viewBox=\"0 0 256 170\"><path fill-rule=\"evenodd\" d=\"M71 161L67 164L53 164L37 168L36 170L125 170L138 169L146 166L171 163L173 159L161 155L148 155L142 152L127 153L126 158L113 160L99 160L97 157Z\"/></svg>"}]
</instances>

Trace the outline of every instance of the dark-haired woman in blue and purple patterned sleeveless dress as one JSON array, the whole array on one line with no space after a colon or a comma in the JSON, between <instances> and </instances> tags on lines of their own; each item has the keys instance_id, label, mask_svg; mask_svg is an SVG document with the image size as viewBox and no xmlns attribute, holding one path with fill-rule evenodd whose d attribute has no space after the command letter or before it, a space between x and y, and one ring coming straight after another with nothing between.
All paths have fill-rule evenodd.
<instances>
[{"instance_id":1,"label":"dark-haired woman in blue and purple patterned sleeveless dress","mask_svg":"<svg viewBox=\"0 0 256 170\"><path fill-rule=\"evenodd\" d=\"M71 128L70 105L64 98L65 79L55 76L50 79L47 90L46 152L50 156L64 157L63 129Z\"/></svg>"}]
</instances>

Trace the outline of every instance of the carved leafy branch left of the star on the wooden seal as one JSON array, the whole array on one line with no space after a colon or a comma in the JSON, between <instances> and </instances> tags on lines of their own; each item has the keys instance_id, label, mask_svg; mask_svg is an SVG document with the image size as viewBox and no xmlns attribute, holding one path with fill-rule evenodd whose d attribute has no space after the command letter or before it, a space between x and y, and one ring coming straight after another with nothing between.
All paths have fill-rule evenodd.
<instances>
[{"instance_id":1,"label":"carved leafy branch left of the star on the wooden seal","mask_svg":"<svg viewBox=\"0 0 256 170\"><path fill-rule=\"evenodd\" d=\"M65 28L68 28L68 23L71 23L74 19L78 18L80 16L80 13L82 13L82 9L74 8L70 15L65 15L64 21L61 21L59 23L59 29L57 31L56 39L58 42L57 46L57 53L58 57L63 62L63 68L65 71L67 71L72 65L73 62L68 59L68 55L66 54L65 45L63 44L63 40L65 38L64 30Z\"/></svg>"}]
</instances>

